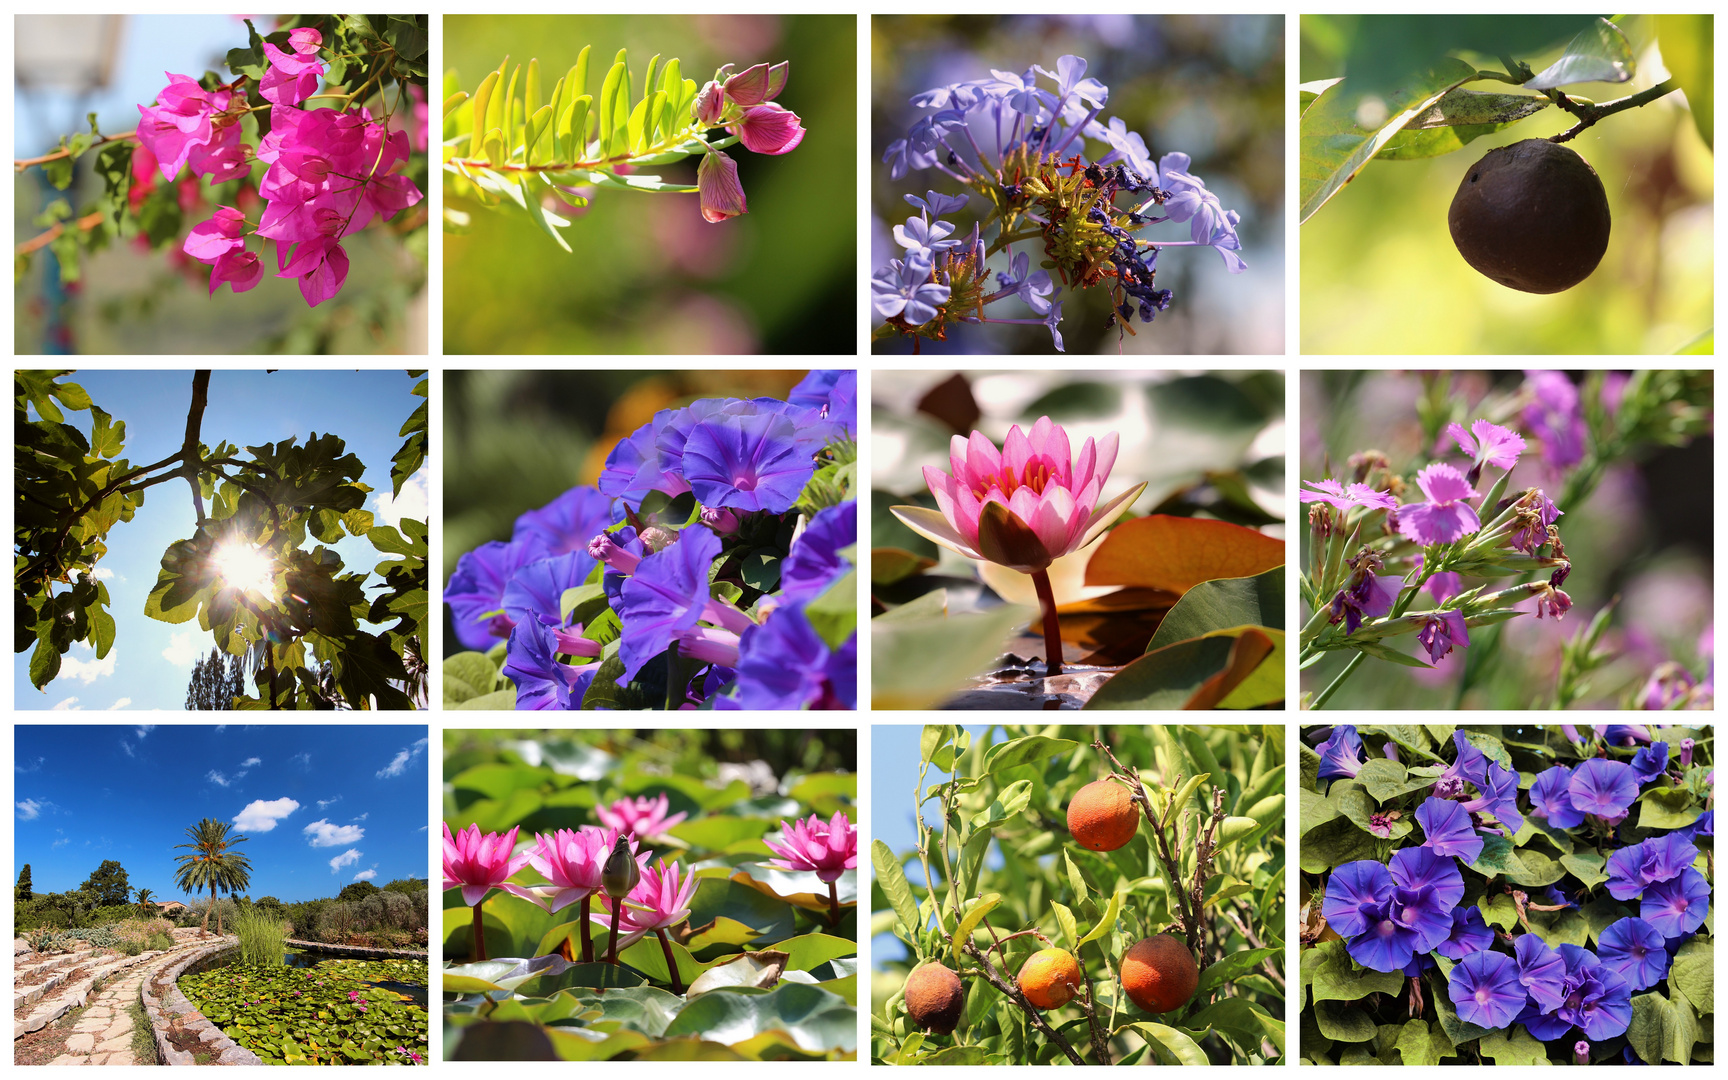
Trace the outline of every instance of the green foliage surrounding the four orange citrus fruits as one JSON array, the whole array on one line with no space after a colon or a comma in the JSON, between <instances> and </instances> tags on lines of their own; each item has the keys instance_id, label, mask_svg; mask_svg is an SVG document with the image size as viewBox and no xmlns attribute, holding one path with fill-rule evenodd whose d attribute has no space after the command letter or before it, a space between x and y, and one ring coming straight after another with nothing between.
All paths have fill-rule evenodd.
<instances>
[{"instance_id":1,"label":"green foliage surrounding the four orange citrus fruits","mask_svg":"<svg viewBox=\"0 0 1728 1080\"><path fill-rule=\"evenodd\" d=\"M1115 772L1092 740L1139 772L1168 845L1144 819L1111 852L1068 835L1068 802ZM1279 726L926 726L914 788L918 848L871 847L871 926L905 945L904 959L876 950L873 1063L1280 1063L1282 748ZM1191 950L1204 940L1206 950L1194 999L1151 1023L1116 980L1121 956L1159 931ZM1083 994L1042 1011L1059 1039L1002 992L1051 943L1075 954L1096 1002L1094 1016ZM904 982L921 962L947 964L968 985L952 1035L919 1030L905 1009Z\"/></svg>"}]
</instances>

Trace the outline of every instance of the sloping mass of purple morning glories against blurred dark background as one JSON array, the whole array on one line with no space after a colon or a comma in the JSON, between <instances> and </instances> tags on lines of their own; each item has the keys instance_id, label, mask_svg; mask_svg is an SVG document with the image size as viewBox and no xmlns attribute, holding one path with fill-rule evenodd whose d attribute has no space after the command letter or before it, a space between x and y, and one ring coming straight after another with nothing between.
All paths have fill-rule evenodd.
<instances>
[{"instance_id":1,"label":"sloping mass of purple morning glories against blurred dark background","mask_svg":"<svg viewBox=\"0 0 1728 1080\"><path fill-rule=\"evenodd\" d=\"M855 708L855 619L829 639L810 610L852 572L855 439L855 372L810 372L786 401L662 410L594 487L456 562L456 636L506 643L517 708L582 708L596 677L646 676L672 708Z\"/></svg>"}]
</instances>

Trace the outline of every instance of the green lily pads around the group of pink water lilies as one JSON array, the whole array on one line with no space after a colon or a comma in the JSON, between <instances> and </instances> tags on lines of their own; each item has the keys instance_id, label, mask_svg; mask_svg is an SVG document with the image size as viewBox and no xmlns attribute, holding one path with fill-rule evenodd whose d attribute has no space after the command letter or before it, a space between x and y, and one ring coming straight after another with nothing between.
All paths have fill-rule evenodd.
<instances>
[{"instance_id":1,"label":"green lily pads around the group of pink water lilies","mask_svg":"<svg viewBox=\"0 0 1728 1080\"><path fill-rule=\"evenodd\" d=\"M494 959L460 962L473 956L473 909L444 893L446 1058L546 1051L565 1061L645 1061L689 1045L750 1061L855 1056L855 871L829 893L814 873L766 866L772 854L762 843L786 821L855 816L850 733L451 729L444 738L451 829L520 828L527 840L598 824L594 807L620 797L665 793L688 817L669 829L670 847L645 847L696 878L688 926L669 931L676 988L653 935L620 950L617 968L565 961L560 945L575 954L579 909L546 912L503 892L482 902ZM532 869L517 880L541 883ZM593 945L603 957L600 923Z\"/></svg>"}]
</instances>

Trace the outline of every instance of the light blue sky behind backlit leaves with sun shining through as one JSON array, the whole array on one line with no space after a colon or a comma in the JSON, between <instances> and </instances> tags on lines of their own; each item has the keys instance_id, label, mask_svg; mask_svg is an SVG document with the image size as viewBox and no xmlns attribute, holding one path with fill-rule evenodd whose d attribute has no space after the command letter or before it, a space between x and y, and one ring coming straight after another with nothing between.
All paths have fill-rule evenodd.
<instances>
[{"instance_id":1,"label":"light blue sky behind backlit leaves with sun shining through","mask_svg":"<svg viewBox=\"0 0 1728 1080\"><path fill-rule=\"evenodd\" d=\"M123 456L133 465L161 461L180 449L192 401L192 372L95 372L69 375L90 392L92 401L126 422ZM382 524L394 524L399 513L427 517L427 470L403 486L401 499L380 505L391 494L391 458L401 448L397 432L420 404L413 396L418 380L406 372L214 372L209 406L204 410L206 446L228 441L259 446L297 437L301 442L318 434L335 434L347 451L366 463L361 477L373 492L366 510L380 513ZM86 435L90 413L66 413ZM35 410L31 410L35 420ZM244 451L242 451L244 454ZM214 641L197 620L157 622L143 613L145 598L156 588L162 551L175 541L188 539L197 527L192 496L185 482L171 480L145 492L143 506L131 522L109 532L109 553L98 565L107 581L114 615L114 648L102 660L95 650L74 645L60 664L60 674L47 693L29 684L29 651L12 660L14 698L19 708L104 710L171 708L187 702L192 664L209 655ZM316 541L308 537L308 548ZM347 569L372 569L389 558L368 541L344 537L335 544ZM378 584L373 577L368 584ZM368 593L372 594L372 593Z\"/></svg>"}]
</instances>

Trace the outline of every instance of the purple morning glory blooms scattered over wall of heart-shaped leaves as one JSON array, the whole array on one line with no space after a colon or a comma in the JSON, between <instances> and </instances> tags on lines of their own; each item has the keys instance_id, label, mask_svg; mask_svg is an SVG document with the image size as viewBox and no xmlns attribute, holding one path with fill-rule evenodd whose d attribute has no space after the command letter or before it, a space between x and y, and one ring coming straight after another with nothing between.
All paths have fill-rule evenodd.
<instances>
[{"instance_id":1,"label":"purple morning glory blooms scattered over wall of heart-shaped leaves","mask_svg":"<svg viewBox=\"0 0 1728 1080\"><path fill-rule=\"evenodd\" d=\"M1567 727L1583 745L1576 729ZM1465 733L1453 734L1455 760L1422 791L1415 824L1422 842L1391 854L1388 862L1360 859L1337 866L1325 886L1320 914L1346 942L1346 952L1363 968L1401 971L1419 978L1434 956L1452 961L1446 995L1458 1020L1488 1030L1522 1025L1541 1042L1578 1037L1600 1042L1626 1033L1631 995L1655 987L1669 973L1674 952L1704 926L1711 886L1695 869L1699 838L1714 838L1714 810L1692 824L1647 835L1607 855L1605 892L1619 902L1636 902L1638 914L1619 918L1595 933L1595 950L1560 942L1524 921L1526 904L1541 911L1576 909L1548 885L1543 892L1514 893L1524 933L1495 933L1474 902L1465 902L1464 866L1490 878L1498 867L1472 866L1490 838L1507 847L1526 817L1550 835L1585 829L1614 842L1630 829L1628 817L1645 791L1685 783L1692 740L1671 762L1669 746L1645 727L1598 724L1605 745L1642 743L1633 759L1588 757L1576 767L1553 766L1529 785L1529 810L1519 807L1519 774L1490 760ZM1372 757L1353 726L1341 724L1315 746L1320 781L1355 779ZM1384 753L1398 757L1386 741ZM1438 769L1438 766L1434 767ZM1673 769L1673 772L1671 772ZM1410 771L1412 779L1417 771ZM1706 785L1714 774L1706 778ZM1375 814L1370 833L1391 836L1396 814ZM1579 866L1586 866L1586 862ZM1571 866L1571 869L1578 869ZM1509 947L1500 950L1496 945ZM1588 1061L1588 1047L1583 1051Z\"/></svg>"}]
</instances>

